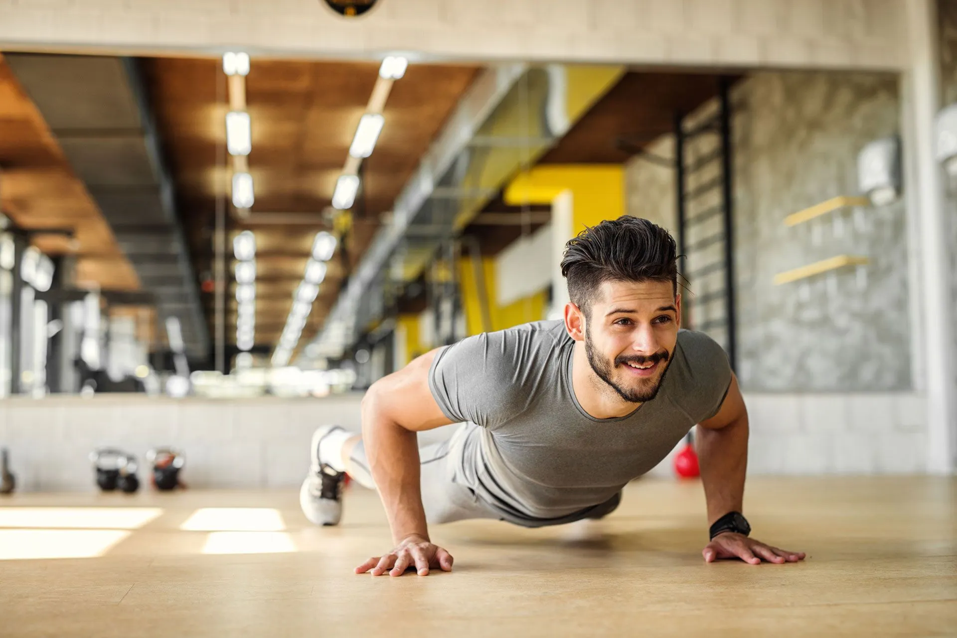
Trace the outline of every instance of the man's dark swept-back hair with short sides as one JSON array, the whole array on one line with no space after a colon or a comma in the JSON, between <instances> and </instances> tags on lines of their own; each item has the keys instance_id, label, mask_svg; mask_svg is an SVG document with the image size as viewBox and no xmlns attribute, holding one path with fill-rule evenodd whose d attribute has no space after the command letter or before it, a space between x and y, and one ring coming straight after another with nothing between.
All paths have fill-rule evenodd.
<instances>
[{"instance_id":1,"label":"man's dark swept-back hair with short sides","mask_svg":"<svg viewBox=\"0 0 957 638\"><path fill-rule=\"evenodd\" d=\"M565 245L562 275L568 297L588 316L606 281L668 281L678 294L677 253L671 234L647 219L606 219Z\"/></svg>"}]
</instances>

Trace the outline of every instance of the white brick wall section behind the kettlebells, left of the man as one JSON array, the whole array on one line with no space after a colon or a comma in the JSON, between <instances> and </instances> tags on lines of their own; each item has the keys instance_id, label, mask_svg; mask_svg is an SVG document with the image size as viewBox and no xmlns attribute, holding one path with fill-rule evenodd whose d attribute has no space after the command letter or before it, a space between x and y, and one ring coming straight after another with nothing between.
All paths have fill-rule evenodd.
<instances>
[{"instance_id":1,"label":"white brick wall section behind the kettlebells, left of the man","mask_svg":"<svg viewBox=\"0 0 957 638\"><path fill-rule=\"evenodd\" d=\"M339 423L358 431L360 399L9 399L0 402L0 445L10 449L26 491L93 489L87 455L101 446L139 456L141 480L145 452L173 446L186 452L183 479L190 486L292 487L308 468L313 430Z\"/></svg>"}]
</instances>

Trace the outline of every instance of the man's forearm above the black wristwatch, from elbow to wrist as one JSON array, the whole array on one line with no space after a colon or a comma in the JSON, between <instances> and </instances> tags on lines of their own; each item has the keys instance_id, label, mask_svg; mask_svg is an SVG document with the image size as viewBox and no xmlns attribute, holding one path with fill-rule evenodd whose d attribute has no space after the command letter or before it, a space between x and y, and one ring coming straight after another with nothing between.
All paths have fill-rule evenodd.
<instances>
[{"instance_id":1,"label":"man's forearm above the black wristwatch, from elbow to wrist","mask_svg":"<svg viewBox=\"0 0 957 638\"><path fill-rule=\"evenodd\" d=\"M696 448L709 525L728 512L743 510L747 434L746 414L721 429L697 429Z\"/></svg>"}]
</instances>

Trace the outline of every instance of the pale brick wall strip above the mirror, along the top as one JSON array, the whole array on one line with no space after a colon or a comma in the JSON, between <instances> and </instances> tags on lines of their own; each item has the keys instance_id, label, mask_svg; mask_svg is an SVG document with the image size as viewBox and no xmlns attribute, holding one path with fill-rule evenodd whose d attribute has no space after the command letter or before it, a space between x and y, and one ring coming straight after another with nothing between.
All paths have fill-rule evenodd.
<instances>
[{"instance_id":1,"label":"pale brick wall strip above the mirror, along the top","mask_svg":"<svg viewBox=\"0 0 957 638\"><path fill-rule=\"evenodd\" d=\"M901 69L906 0L0 0L0 49Z\"/></svg>"}]
</instances>

